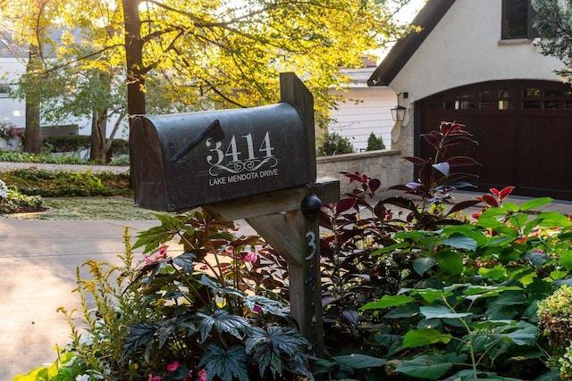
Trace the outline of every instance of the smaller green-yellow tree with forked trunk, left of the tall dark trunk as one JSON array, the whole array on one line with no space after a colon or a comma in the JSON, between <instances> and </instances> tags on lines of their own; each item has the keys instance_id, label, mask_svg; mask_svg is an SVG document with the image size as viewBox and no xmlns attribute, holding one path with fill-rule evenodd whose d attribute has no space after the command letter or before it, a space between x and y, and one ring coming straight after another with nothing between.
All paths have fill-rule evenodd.
<instances>
[{"instance_id":1,"label":"smaller green-yellow tree with forked trunk, left of the tall dark trunk","mask_svg":"<svg viewBox=\"0 0 572 381\"><path fill-rule=\"evenodd\" d=\"M86 0L67 4L60 18L62 38L50 69L59 90L44 114L55 120L90 116L89 158L105 163L126 115L122 13L113 2Z\"/></svg>"}]
</instances>

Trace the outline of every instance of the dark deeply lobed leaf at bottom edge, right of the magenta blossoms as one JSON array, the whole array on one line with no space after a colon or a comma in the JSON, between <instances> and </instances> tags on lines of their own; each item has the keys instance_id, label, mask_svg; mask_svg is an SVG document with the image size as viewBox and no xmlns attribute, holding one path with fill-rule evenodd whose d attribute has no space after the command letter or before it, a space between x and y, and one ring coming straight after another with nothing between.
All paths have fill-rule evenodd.
<instances>
[{"instance_id":1,"label":"dark deeply lobed leaf at bottom edge, right of the magenta blossoms","mask_svg":"<svg viewBox=\"0 0 572 381\"><path fill-rule=\"evenodd\" d=\"M205 367L208 379L218 376L222 380L248 381L247 360L243 345L233 345L226 350L220 344L206 344L198 365Z\"/></svg>"}]
</instances>

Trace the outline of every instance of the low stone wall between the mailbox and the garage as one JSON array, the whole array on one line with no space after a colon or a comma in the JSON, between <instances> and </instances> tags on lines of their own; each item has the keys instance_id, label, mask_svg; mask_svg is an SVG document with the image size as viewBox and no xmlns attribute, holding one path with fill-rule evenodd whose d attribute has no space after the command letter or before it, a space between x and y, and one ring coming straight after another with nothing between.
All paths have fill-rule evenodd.
<instances>
[{"instance_id":1,"label":"low stone wall between the mailbox and the garage","mask_svg":"<svg viewBox=\"0 0 572 381\"><path fill-rule=\"evenodd\" d=\"M317 178L337 178L341 193L349 188L349 178L340 172L359 172L369 178L379 178L382 188L405 184L413 178L413 164L401 157L399 150L346 153L316 158Z\"/></svg>"}]
</instances>

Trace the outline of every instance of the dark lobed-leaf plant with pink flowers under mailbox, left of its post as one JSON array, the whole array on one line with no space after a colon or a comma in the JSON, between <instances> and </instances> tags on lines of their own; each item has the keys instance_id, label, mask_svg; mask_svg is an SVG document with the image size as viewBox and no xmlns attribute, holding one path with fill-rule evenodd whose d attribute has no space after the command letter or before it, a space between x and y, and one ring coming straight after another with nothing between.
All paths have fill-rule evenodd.
<instances>
[{"instance_id":1,"label":"dark lobed-leaf plant with pink flowers under mailbox, left of its post","mask_svg":"<svg viewBox=\"0 0 572 381\"><path fill-rule=\"evenodd\" d=\"M221 379L311 377L304 355L309 344L288 327L287 304L272 291L281 286L274 268L281 260L255 249L257 236L234 236L232 224L205 213L159 218L163 225L142 233L135 246L150 253L179 236L185 253L147 257L141 282L130 286L163 307L156 310L161 319L130 326L122 361L161 353Z\"/></svg>"}]
</instances>

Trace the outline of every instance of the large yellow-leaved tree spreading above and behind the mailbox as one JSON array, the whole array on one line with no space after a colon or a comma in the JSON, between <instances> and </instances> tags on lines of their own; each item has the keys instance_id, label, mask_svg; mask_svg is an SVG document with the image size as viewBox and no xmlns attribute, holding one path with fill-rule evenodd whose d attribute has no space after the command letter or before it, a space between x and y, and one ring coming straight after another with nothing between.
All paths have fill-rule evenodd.
<instances>
[{"instance_id":1,"label":"large yellow-leaved tree spreading above and behind the mailbox","mask_svg":"<svg viewBox=\"0 0 572 381\"><path fill-rule=\"evenodd\" d=\"M80 30L74 36L63 33L55 43L57 62L48 62L51 66L43 62L44 83L54 85L54 96L44 97L65 99L65 104L71 104L71 95L80 96L84 104L91 104L94 126L97 120L107 120L105 116L110 111L120 109L112 104L125 105L121 97L111 96L118 75L125 76L127 82L127 112L135 115L274 103L280 93L282 71L294 71L304 80L315 95L316 120L324 124L333 103L324 90L349 81L341 75L341 67L359 67L363 54L383 47L399 35L402 29L392 17L400 6L408 3L408 0L25 0L23 3L34 1L46 2L50 12L55 9L57 13L51 17L45 17L46 13L37 16L36 24L26 21L27 29L44 24L53 27L57 21L57 28L64 31ZM45 87L43 95L49 92ZM110 100L112 104L102 104L102 100ZM46 107L49 110L53 111ZM96 130L99 135L102 131L103 128Z\"/></svg>"}]
</instances>

